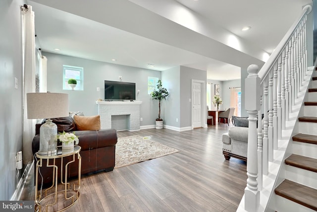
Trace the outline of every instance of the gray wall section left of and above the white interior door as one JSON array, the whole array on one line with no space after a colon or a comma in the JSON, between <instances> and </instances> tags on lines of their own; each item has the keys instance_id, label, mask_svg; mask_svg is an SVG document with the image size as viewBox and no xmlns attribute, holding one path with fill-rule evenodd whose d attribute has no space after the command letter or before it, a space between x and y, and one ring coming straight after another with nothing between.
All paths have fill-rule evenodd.
<instances>
[{"instance_id":1,"label":"gray wall section left of and above the white interior door","mask_svg":"<svg viewBox=\"0 0 317 212\"><path fill-rule=\"evenodd\" d=\"M207 81L207 72L192 69L188 67L180 67L180 128L192 126L192 105L189 99L192 98L192 79ZM206 90L205 87L203 88ZM206 97L205 97L206 99Z\"/></svg>"}]
</instances>

